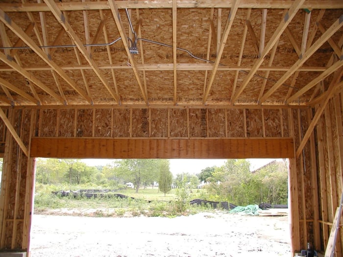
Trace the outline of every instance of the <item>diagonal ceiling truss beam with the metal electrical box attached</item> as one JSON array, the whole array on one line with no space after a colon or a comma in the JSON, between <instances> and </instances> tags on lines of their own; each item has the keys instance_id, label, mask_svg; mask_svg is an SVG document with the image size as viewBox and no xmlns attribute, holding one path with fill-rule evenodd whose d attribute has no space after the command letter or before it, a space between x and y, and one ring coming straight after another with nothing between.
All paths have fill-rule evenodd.
<instances>
[{"instance_id":1,"label":"diagonal ceiling truss beam with the metal electrical box attached","mask_svg":"<svg viewBox=\"0 0 343 257\"><path fill-rule=\"evenodd\" d=\"M108 3L110 5L110 7L111 7L113 18L114 18L114 20L115 20L115 22L117 24L119 33L120 33L121 38L122 38L123 45L124 45L125 50L126 50L127 57L128 57L129 62L131 64L133 73L135 74L138 86L141 89L141 92L142 92L142 95L143 95L143 98L144 98L146 104L148 105L149 103L148 103L148 100L147 100L147 94L146 94L146 92L145 92L145 90L144 90L144 88L142 86L142 82L141 82L141 78L140 78L139 73L138 73L136 62L132 58L132 55L131 55L131 53L129 51L129 47L128 47L128 44L127 44L127 36L125 34L125 29L124 29L123 23L122 23L121 18L120 18L120 14L119 14L119 10L117 8L117 4L114 2L114 0L109 0Z\"/></svg>"}]
</instances>

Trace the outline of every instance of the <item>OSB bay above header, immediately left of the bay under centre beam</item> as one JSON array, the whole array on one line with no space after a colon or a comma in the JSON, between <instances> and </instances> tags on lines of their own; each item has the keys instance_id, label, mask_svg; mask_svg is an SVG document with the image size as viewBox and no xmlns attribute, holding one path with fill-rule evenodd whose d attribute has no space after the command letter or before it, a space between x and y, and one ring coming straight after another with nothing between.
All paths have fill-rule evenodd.
<instances>
[{"instance_id":1,"label":"OSB bay above header, immediately left of the bay under centre beam","mask_svg":"<svg viewBox=\"0 0 343 257\"><path fill-rule=\"evenodd\" d=\"M168 109L151 109L151 137L168 137Z\"/></svg>"}]
</instances>

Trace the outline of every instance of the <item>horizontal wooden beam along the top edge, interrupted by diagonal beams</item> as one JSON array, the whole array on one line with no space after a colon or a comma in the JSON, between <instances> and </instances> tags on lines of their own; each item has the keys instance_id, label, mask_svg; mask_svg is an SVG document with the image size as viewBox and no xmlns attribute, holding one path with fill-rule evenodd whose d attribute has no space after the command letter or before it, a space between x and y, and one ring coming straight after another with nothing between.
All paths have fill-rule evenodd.
<instances>
[{"instance_id":1,"label":"horizontal wooden beam along the top edge, interrupted by diagonal beams","mask_svg":"<svg viewBox=\"0 0 343 257\"><path fill-rule=\"evenodd\" d=\"M239 8L266 8L266 9L288 9L292 6L292 0L242 0ZM233 0L202 0L189 1L178 0L177 8L231 8ZM76 10L106 10L110 9L107 1L95 2L68 2L57 3L61 11L76 11ZM1 3L0 8L5 12L45 12L49 11L49 7L42 3ZM171 1L156 1L156 0L123 0L118 2L118 8L135 9L135 8L172 8ZM342 9L343 3L340 0L307 0L301 5L302 9Z\"/></svg>"}]
</instances>

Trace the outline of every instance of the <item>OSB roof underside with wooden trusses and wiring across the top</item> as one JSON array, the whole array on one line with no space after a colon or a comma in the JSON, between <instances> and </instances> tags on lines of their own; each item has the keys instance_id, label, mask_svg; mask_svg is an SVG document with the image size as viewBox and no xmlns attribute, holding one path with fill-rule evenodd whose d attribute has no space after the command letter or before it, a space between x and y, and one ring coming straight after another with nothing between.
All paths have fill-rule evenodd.
<instances>
[{"instance_id":1,"label":"OSB roof underside with wooden trusses and wiring across the top","mask_svg":"<svg viewBox=\"0 0 343 257\"><path fill-rule=\"evenodd\" d=\"M0 105L311 106L342 25L342 0L2 0Z\"/></svg>"}]
</instances>

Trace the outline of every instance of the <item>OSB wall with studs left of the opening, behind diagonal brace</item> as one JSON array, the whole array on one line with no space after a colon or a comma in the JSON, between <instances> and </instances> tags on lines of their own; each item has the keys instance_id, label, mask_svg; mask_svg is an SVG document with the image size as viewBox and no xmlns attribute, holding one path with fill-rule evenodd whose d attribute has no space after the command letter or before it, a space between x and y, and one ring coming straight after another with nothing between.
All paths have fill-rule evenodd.
<instances>
[{"instance_id":1,"label":"OSB wall with studs left of the opening, behind diagonal brace","mask_svg":"<svg viewBox=\"0 0 343 257\"><path fill-rule=\"evenodd\" d=\"M25 109L11 110L8 113L13 127L27 146L33 132L32 115L34 115L32 110ZM28 184L32 188L33 180L27 180L28 175L32 174L32 169L27 168L30 158L25 156L9 133L6 142L1 188L7 188L7 190L2 190L0 195L0 202L4 207L1 209L0 216L0 244L2 249L25 249L28 246L27 232L31 218L26 209L31 205L25 203L27 193L32 195L32 190L28 191L26 188Z\"/></svg>"}]
</instances>

